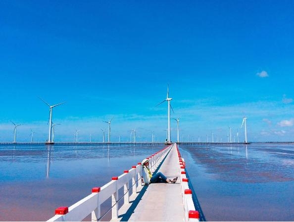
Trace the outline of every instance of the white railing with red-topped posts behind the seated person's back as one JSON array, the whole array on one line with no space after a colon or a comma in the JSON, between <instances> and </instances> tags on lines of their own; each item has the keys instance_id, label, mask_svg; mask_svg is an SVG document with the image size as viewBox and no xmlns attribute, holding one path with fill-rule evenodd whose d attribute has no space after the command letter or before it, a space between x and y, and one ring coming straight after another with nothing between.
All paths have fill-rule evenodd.
<instances>
[{"instance_id":1,"label":"white railing with red-topped posts behind the seated person's back","mask_svg":"<svg viewBox=\"0 0 294 222\"><path fill-rule=\"evenodd\" d=\"M169 145L155 154L147 157L149 159L150 170L154 172L168 151L173 145ZM82 221L89 214L92 214L92 221L100 221L110 210L112 219L118 218L118 190L124 187L124 204L129 203L130 190L137 193L137 187L142 177L142 165L138 163L132 169L124 171L119 177L113 177L112 180L102 187L94 187L92 194L78 201L70 207L59 207L55 210L55 216L48 221ZM141 184L141 182L140 182ZM141 184L142 185L142 184ZM101 204L111 197L112 207L101 216Z\"/></svg>"}]
</instances>

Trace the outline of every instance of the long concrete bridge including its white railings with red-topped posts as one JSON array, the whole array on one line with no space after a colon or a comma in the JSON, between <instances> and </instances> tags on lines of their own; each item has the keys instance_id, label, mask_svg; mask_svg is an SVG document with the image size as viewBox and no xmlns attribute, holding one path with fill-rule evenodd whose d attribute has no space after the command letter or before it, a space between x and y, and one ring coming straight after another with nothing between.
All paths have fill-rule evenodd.
<instances>
[{"instance_id":1,"label":"long concrete bridge including its white railings with red-topped posts","mask_svg":"<svg viewBox=\"0 0 294 222\"><path fill-rule=\"evenodd\" d=\"M59 207L48 221L82 221L92 214L92 221L101 221L101 204L111 198L111 221L199 221L186 177L185 163L176 143L147 157L152 173L161 172L167 178L178 177L172 183L141 183L142 165L138 163L113 177L102 187L94 187L92 194L70 207ZM119 192L123 195L119 198ZM119 207L119 202L122 202ZM106 213L107 213L106 212Z\"/></svg>"}]
</instances>

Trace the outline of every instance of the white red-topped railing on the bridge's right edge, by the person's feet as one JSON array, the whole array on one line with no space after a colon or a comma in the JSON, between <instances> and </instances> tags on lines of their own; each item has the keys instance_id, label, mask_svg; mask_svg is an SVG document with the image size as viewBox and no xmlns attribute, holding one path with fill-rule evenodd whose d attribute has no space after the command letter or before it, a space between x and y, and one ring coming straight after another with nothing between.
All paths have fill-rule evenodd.
<instances>
[{"instance_id":1,"label":"white red-topped railing on the bridge's right edge, by the person's feet","mask_svg":"<svg viewBox=\"0 0 294 222\"><path fill-rule=\"evenodd\" d=\"M178 146L177 152L179 157L179 173L185 211L184 221L199 221L199 212L195 209L195 205L192 199L192 190L189 188L189 179L186 177L186 163L185 161L183 161L184 159L181 157Z\"/></svg>"}]
</instances>

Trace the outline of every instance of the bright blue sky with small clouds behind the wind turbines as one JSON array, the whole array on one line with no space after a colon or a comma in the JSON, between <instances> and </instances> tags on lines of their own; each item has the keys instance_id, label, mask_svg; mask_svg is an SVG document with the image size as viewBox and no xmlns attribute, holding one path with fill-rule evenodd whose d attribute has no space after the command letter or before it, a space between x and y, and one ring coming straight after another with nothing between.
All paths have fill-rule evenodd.
<instances>
[{"instance_id":1,"label":"bright blue sky with small clouds behind the wind turbines","mask_svg":"<svg viewBox=\"0 0 294 222\"><path fill-rule=\"evenodd\" d=\"M294 141L294 1L0 3L0 141ZM171 122L176 141L176 121ZM214 137L216 141L216 137Z\"/></svg>"}]
</instances>

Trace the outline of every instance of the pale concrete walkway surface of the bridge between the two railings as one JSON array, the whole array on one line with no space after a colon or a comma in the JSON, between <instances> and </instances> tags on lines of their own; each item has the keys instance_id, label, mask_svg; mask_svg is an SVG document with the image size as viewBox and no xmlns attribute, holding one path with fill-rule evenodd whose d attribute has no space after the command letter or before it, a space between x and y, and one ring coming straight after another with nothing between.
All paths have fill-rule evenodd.
<instances>
[{"instance_id":1,"label":"pale concrete walkway surface of the bridge between the two railings","mask_svg":"<svg viewBox=\"0 0 294 222\"><path fill-rule=\"evenodd\" d=\"M131 196L133 200L129 206L120 209L118 221L184 220L176 145L173 146L156 172L161 172L170 179L178 177L178 181L175 184L151 183L148 186L142 186L137 195Z\"/></svg>"}]
</instances>

